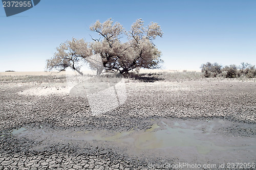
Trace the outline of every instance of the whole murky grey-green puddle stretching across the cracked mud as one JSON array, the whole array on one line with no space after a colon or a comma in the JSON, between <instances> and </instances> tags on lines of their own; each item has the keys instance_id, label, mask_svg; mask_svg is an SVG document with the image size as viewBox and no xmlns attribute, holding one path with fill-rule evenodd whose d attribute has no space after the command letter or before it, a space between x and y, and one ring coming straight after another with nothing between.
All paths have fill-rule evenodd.
<instances>
[{"instance_id":1,"label":"whole murky grey-green puddle stretching across the cracked mud","mask_svg":"<svg viewBox=\"0 0 256 170\"><path fill-rule=\"evenodd\" d=\"M213 159L231 161L240 158L252 161L256 157L256 139L216 134L215 130L226 124L227 122L223 122L223 120L202 120L195 124L189 120L166 119L145 131L131 130L116 133L109 131L50 131L41 127L39 129L20 128L13 130L12 134L48 142L108 141L119 147L130 148L132 153L163 150L165 154L172 154L174 157L189 157L187 159L200 157L200 160L203 161Z\"/></svg>"}]
</instances>

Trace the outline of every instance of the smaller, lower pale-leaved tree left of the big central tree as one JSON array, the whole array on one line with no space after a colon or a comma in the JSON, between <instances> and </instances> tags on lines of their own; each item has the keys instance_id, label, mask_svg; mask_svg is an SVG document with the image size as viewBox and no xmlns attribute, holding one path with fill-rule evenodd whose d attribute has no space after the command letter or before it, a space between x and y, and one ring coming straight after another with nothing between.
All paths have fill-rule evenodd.
<instances>
[{"instance_id":1,"label":"smaller, lower pale-leaved tree left of the big central tree","mask_svg":"<svg viewBox=\"0 0 256 170\"><path fill-rule=\"evenodd\" d=\"M84 39L77 40L72 38L71 41L61 43L60 46L57 47L57 51L53 58L47 60L47 70L57 69L62 71L70 67L76 70L80 75L83 75L80 71L80 67L83 64L82 59L86 59L92 55L92 50L88 47Z\"/></svg>"}]
</instances>

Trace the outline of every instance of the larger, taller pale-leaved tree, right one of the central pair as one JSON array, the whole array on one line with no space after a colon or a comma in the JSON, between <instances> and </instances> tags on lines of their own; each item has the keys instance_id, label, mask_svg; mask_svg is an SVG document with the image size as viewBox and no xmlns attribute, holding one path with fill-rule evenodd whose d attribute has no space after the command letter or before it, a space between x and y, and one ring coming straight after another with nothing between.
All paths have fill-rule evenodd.
<instances>
[{"instance_id":1,"label":"larger, taller pale-leaved tree, right one of the central pair","mask_svg":"<svg viewBox=\"0 0 256 170\"><path fill-rule=\"evenodd\" d=\"M120 23L114 24L111 18L103 23L96 21L90 27L103 38L101 41L94 39L91 47L94 53L101 55L105 70L127 74L136 67L157 68L162 62L161 52L152 41L157 36L162 37L163 32L158 23L144 27L143 22L137 19L129 32L125 32ZM124 36L127 36L127 42L120 41Z\"/></svg>"}]
</instances>

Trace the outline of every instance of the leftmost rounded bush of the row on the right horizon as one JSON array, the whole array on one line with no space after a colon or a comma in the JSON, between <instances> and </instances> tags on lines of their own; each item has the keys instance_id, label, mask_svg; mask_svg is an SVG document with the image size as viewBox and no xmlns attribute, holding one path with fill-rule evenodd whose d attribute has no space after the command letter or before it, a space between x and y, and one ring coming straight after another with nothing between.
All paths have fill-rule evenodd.
<instances>
[{"instance_id":1,"label":"leftmost rounded bush of the row on the right horizon","mask_svg":"<svg viewBox=\"0 0 256 170\"><path fill-rule=\"evenodd\" d=\"M204 77L217 77L221 74L221 65L218 63L210 63L202 64L200 68L202 68L202 72L204 72Z\"/></svg>"}]
</instances>

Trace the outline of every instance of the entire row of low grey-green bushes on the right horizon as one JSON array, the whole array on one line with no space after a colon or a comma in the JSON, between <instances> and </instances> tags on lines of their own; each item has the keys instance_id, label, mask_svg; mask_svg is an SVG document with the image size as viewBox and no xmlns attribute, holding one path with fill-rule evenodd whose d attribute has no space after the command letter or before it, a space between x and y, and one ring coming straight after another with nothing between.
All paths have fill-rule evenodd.
<instances>
[{"instance_id":1,"label":"entire row of low grey-green bushes on the right horizon","mask_svg":"<svg viewBox=\"0 0 256 170\"><path fill-rule=\"evenodd\" d=\"M256 67L249 63L241 63L241 65L222 66L218 63L207 62L201 67L204 77L224 77L224 78L256 78Z\"/></svg>"}]
</instances>

